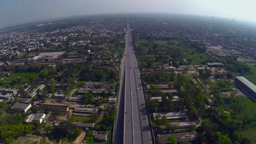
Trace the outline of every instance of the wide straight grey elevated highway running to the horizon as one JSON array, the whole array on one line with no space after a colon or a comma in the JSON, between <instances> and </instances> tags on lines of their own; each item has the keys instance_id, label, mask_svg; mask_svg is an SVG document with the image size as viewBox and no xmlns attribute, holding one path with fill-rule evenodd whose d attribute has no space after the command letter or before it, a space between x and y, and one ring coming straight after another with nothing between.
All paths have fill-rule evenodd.
<instances>
[{"instance_id":1,"label":"wide straight grey elevated highway running to the horizon","mask_svg":"<svg viewBox=\"0 0 256 144\"><path fill-rule=\"evenodd\" d=\"M138 62L131 30L126 29L126 47L121 62L120 97L115 143L152 143Z\"/></svg>"}]
</instances>

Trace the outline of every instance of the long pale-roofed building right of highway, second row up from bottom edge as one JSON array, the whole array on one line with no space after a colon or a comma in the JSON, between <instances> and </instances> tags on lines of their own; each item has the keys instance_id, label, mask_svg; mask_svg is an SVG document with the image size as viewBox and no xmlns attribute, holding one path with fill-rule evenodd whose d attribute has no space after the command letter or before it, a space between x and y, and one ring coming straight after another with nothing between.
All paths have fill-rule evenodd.
<instances>
[{"instance_id":1,"label":"long pale-roofed building right of highway, second row up from bottom edge","mask_svg":"<svg viewBox=\"0 0 256 144\"><path fill-rule=\"evenodd\" d=\"M153 113L153 116L155 118L156 115L166 116L167 119L187 119L188 115L185 111L179 111L179 112L162 112L162 113Z\"/></svg>"}]
</instances>

